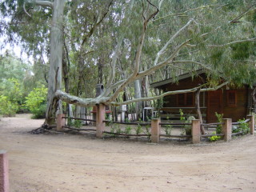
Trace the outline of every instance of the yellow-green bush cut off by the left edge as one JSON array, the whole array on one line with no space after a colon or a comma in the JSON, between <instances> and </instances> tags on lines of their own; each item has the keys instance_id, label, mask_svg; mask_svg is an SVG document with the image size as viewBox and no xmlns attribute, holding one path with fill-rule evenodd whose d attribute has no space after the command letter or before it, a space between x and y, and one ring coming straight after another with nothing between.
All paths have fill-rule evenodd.
<instances>
[{"instance_id":1,"label":"yellow-green bush cut off by the left edge","mask_svg":"<svg viewBox=\"0 0 256 192\"><path fill-rule=\"evenodd\" d=\"M0 95L0 114L4 117L11 117L16 114L17 110L18 105L16 103L10 102L6 96Z\"/></svg>"}]
</instances>

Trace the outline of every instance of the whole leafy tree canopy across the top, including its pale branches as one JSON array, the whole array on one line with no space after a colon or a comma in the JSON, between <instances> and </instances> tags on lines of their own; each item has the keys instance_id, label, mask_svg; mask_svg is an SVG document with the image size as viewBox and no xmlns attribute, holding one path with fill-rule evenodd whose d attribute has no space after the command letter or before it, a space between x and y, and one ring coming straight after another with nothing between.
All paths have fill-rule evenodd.
<instances>
[{"instance_id":1,"label":"whole leafy tree canopy across the top, including its pale branches","mask_svg":"<svg viewBox=\"0 0 256 192\"><path fill-rule=\"evenodd\" d=\"M53 49L50 31L61 27L64 86L55 97L66 102L120 105L124 90L134 92L134 80L146 90L149 82L201 68L211 79L208 86L223 79L252 86L256 80L253 1L70 0L63 1L61 22L53 23L55 2L2 1L0 33L51 66L43 58ZM94 98L97 83L106 89Z\"/></svg>"}]
</instances>

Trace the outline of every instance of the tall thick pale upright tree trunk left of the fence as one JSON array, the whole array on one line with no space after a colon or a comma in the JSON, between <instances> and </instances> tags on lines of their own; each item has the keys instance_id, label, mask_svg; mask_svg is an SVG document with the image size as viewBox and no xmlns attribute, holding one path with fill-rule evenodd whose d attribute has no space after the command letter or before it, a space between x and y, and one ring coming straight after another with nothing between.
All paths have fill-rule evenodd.
<instances>
[{"instance_id":1,"label":"tall thick pale upright tree trunk left of the fence","mask_svg":"<svg viewBox=\"0 0 256 192\"><path fill-rule=\"evenodd\" d=\"M56 90L61 90L62 86L62 28L65 2L66 1L64 0L55 0L53 6L53 21L50 32L50 70L46 110L46 124L48 126L54 123L57 108L62 110L62 106L59 106L59 102L54 101L54 93Z\"/></svg>"}]
</instances>

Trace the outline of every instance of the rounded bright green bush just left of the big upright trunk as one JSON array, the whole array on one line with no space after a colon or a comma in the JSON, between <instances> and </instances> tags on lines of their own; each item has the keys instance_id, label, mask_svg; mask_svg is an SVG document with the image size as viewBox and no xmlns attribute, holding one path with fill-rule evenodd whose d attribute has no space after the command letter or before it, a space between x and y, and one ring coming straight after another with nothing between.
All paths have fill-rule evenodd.
<instances>
[{"instance_id":1,"label":"rounded bright green bush just left of the big upright trunk","mask_svg":"<svg viewBox=\"0 0 256 192\"><path fill-rule=\"evenodd\" d=\"M46 114L47 88L34 88L26 97L26 107L33 114L32 118L44 118Z\"/></svg>"}]
</instances>

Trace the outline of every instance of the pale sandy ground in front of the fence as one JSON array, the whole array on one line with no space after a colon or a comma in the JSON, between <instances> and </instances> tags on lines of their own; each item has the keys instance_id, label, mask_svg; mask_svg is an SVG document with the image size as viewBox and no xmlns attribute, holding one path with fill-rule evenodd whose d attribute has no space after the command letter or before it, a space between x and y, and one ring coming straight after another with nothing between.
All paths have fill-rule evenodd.
<instances>
[{"instance_id":1,"label":"pale sandy ground in front of the fence","mask_svg":"<svg viewBox=\"0 0 256 192\"><path fill-rule=\"evenodd\" d=\"M27 131L42 120L1 118L10 191L256 191L256 137L199 145Z\"/></svg>"}]
</instances>

